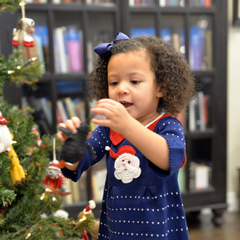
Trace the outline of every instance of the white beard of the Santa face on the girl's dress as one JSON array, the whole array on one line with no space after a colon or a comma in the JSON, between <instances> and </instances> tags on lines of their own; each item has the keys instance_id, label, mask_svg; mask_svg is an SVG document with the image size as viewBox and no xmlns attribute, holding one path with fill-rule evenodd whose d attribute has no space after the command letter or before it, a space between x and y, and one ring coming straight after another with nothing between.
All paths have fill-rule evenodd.
<instances>
[{"instance_id":1,"label":"white beard of the Santa face on the girl's dress","mask_svg":"<svg viewBox=\"0 0 240 240\"><path fill-rule=\"evenodd\" d=\"M126 165L116 169L114 175L118 180L122 180L123 183L129 183L133 180L134 177L139 176L139 171L139 167Z\"/></svg>"}]
</instances>

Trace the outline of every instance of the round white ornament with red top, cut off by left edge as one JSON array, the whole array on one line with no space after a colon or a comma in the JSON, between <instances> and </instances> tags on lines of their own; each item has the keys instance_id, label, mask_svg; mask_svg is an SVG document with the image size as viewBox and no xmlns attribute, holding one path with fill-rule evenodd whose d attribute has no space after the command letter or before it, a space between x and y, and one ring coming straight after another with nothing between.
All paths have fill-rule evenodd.
<instances>
[{"instance_id":1,"label":"round white ornament with red top, cut off by left edge","mask_svg":"<svg viewBox=\"0 0 240 240\"><path fill-rule=\"evenodd\" d=\"M10 131L7 127L7 120L2 116L0 111L0 153L9 150L10 145L12 144L12 137Z\"/></svg>"}]
</instances>

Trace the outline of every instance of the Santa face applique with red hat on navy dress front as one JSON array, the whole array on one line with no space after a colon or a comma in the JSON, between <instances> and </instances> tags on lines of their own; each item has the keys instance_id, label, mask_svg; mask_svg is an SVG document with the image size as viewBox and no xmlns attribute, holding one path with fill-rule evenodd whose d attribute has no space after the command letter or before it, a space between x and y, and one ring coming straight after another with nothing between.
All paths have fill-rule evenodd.
<instances>
[{"instance_id":1,"label":"Santa face applique with red hat on navy dress front","mask_svg":"<svg viewBox=\"0 0 240 240\"><path fill-rule=\"evenodd\" d=\"M118 149L115 153L109 147L109 154L112 158L116 159L114 163L114 176L116 179L121 180L123 183L130 183L134 178L141 175L140 160L136 156L136 151L133 147L125 145Z\"/></svg>"}]
</instances>

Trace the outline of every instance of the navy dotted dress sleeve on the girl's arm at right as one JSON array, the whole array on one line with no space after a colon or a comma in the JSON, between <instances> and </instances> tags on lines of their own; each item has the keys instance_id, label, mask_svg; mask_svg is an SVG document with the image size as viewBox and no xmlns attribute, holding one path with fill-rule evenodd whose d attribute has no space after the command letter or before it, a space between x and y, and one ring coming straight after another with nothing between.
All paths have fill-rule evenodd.
<instances>
[{"instance_id":1,"label":"navy dotted dress sleeve on the girl's arm at right","mask_svg":"<svg viewBox=\"0 0 240 240\"><path fill-rule=\"evenodd\" d=\"M186 142L182 124L174 117L165 117L157 124L157 133L169 147L170 175L179 170L185 160Z\"/></svg>"}]
</instances>

